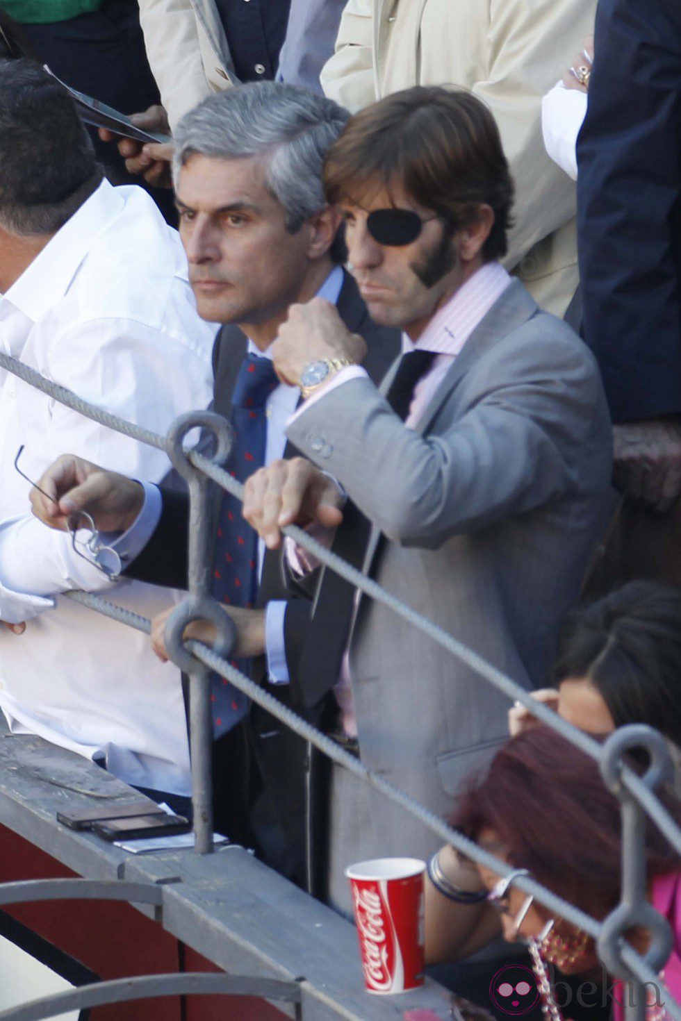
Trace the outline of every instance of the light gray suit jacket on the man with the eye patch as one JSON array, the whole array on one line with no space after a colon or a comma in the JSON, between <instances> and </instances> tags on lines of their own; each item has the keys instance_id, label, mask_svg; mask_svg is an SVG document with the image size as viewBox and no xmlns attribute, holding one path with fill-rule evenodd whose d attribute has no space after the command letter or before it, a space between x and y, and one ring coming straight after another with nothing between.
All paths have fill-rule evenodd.
<instances>
[{"instance_id":1,"label":"light gray suit jacket on the man with the eye patch","mask_svg":"<svg viewBox=\"0 0 681 1021\"><path fill-rule=\"evenodd\" d=\"M416 430L355 379L288 435L374 524L366 573L523 686L545 682L558 623L613 507L605 397L568 326L514 281ZM367 598L350 666L362 762L448 815L471 771L505 738L507 699ZM367 806L371 825L343 836L347 863L437 847L378 794Z\"/></svg>"}]
</instances>

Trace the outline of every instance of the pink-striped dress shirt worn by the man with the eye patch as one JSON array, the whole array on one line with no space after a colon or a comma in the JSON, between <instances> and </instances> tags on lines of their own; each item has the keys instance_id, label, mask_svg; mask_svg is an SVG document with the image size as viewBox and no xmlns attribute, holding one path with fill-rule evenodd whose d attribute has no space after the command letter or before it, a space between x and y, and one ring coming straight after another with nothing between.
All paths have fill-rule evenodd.
<instances>
[{"instance_id":1,"label":"pink-striped dress shirt worn by the man with the eye patch","mask_svg":"<svg viewBox=\"0 0 681 1021\"><path fill-rule=\"evenodd\" d=\"M406 334L402 334L403 353L414 350L436 352L431 368L415 387L409 410L404 421L404 425L408 429L415 428L419 423L454 358L460 354L473 331L501 297L509 283L510 277L499 262L487 262L467 280L449 301L435 313L417 344L414 344ZM366 371L359 366L350 366L341 370L300 406L294 418L304 415L312 403L324 400L325 396L337 387L343 386L349 380L366 376ZM322 530L318 527L314 530L315 538L327 546L331 546L333 534L331 529ZM285 554L295 574L306 574L318 566L309 554L288 538L285 543ZM359 589L357 589L355 604L360 594ZM346 737L356 737L357 724L354 717L350 677L349 650L346 648L341 664L340 677L334 692L341 711L343 733Z\"/></svg>"}]
</instances>

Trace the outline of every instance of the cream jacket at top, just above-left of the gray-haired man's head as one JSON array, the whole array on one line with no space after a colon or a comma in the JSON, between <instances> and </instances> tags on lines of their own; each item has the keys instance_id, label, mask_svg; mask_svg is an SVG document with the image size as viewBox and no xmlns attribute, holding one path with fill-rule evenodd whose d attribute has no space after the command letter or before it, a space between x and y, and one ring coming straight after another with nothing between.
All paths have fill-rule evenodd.
<instances>
[{"instance_id":1,"label":"cream jacket at top, just above-left of the gray-haired man's head","mask_svg":"<svg viewBox=\"0 0 681 1021\"><path fill-rule=\"evenodd\" d=\"M171 129L206 96L238 85L212 0L139 0L151 72Z\"/></svg>"}]
</instances>

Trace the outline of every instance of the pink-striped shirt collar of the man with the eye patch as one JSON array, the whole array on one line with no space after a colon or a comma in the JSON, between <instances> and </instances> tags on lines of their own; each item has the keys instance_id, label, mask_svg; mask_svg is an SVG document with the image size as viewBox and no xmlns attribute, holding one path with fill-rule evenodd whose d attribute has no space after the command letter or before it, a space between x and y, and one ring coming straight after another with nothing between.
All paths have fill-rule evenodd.
<instances>
[{"instance_id":1,"label":"pink-striped shirt collar of the man with the eye patch","mask_svg":"<svg viewBox=\"0 0 681 1021\"><path fill-rule=\"evenodd\" d=\"M499 262L486 262L438 309L416 344L402 334L402 350L455 357L509 283Z\"/></svg>"}]
</instances>

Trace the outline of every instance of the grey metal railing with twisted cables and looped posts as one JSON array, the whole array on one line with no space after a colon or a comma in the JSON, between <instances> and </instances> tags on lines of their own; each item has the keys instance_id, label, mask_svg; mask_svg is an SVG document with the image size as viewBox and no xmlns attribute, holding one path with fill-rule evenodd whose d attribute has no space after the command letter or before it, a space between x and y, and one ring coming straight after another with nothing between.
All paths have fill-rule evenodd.
<instances>
[{"instance_id":1,"label":"grey metal railing with twisted cables and looped posts","mask_svg":"<svg viewBox=\"0 0 681 1021\"><path fill-rule=\"evenodd\" d=\"M223 614L222 611L220 611L220 607L208 599L206 594L209 572L209 560L207 555L208 550L206 546L206 494L205 486L201 485L198 482L198 479L201 475L212 479L218 486L226 489L228 492L233 493L233 495L240 500L243 500L243 486L233 479L220 467L220 465L215 464L213 460L210 460L196 451L187 452L182 450L182 437L196 425L205 424L209 428L214 428L215 435L218 436L220 445L221 430L224 428L229 429L229 426L227 423L224 423L224 420L218 420L218 417L216 416L209 416L208 418L210 421L208 421L208 419L201 415L201 412L199 412L198 417L192 415L183 416L176 424L174 424L171 428L167 440L164 440L162 437L156 436L149 430L142 429L132 423L127 423L107 411L103 411L101 408L95 407L86 401L83 401L81 398L70 393L70 391L65 390L63 387L56 386L49 380L44 379L44 377L40 376L40 374L36 373L34 370L22 366L20 362L2 353L0 353L0 368L7 369L9 372L23 379L30 385L36 386L38 389L48 393L50 396L59 400L61 403L72 407L75 410L80 411L87 418L93 419L94 421L114 429L124 435L131 436L140 442L148 443L149 445L159 449L167 449L172 459L176 457L178 458L179 470L186 475L188 481L190 482L190 495L192 485L194 486L191 521L194 523L196 528L198 528L199 535L201 537L200 543L198 541L194 543L193 556L194 561L197 562L195 564L197 574L194 578L195 592L192 593L192 596L190 596L184 604L181 604L181 606L178 607L177 614L174 614L168 620L166 641L168 651L172 651L173 658L178 658L179 665L191 665L193 668L192 673L196 678L198 678L198 682L192 684L192 688L197 692L195 697L197 706L200 707L200 709L197 710L197 726L193 729L195 729L198 734L202 735L202 737L199 738L199 759L201 761L201 768L197 770L200 774L200 779L198 781L199 790L195 790L195 793L198 793L199 795L197 800L199 804L200 818L197 825L200 827L202 833L200 845L197 833L196 849L199 850L199 853L205 853L212 849L212 842L210 839L211 819L209 808L210 777L209 769L206 766L206 748L209 747L208 739L211 731L208 726L210 721L207 681L201 680L201 678L204 678L206 675L205 672L201 673L195 668L195 664L197 662L201 663L203 667L209 667L216 670L223 676L227 677L233 684L235 684L236 687L239 687L242 691L244 691L244 693L249 695L253 701L258 702L264 709L269 710L269 712L271 712L274 716L280 719L287 726L291 727L291 729L293 729L300 736L309 740L323 752L335 762L339 763L339 765L349 769L351 772L355 773L355 775L361 777L366 782L371 783L377 789L381 790L392 800L401 805L402 808L415 815L442 839L451 842L453 846L455 846L463 854L469 856L473 861L487 865L499 875L505 876L509 871L512 871L509 866L505 863L494 859L493 856L477 847L470 840L461 836L461 834L451 830L442 819L429 812L423 806L419 805L407 794L393 787L392 784L386 782L380 776L371 773L358 760L349 756L335 742L331 741L330 738L326 737L326 735L314 730L314 728L310 727L304 720L296 717L295 714L283 707L272 695L260 689L257 685L253 684L249 678L236 671L227 662L227 660L224 659L224 657L220 655L218 651L209 649L206 645L193 640L184 642L183 632L185 627L188 623L197 619L207 619L210 623L215 623L217 625L221 650L231 647L234 637L231 632L230 625L227 623L227 615ZM199 418L201 421L198 421ZM217 425L216 420L220 421L220 425ZM224 454L224 448L220 452ZM192 471L192 469L195 471ZM205 482L205 480L203 481ZM623 820L625 821L623 854L625 856L625 860L627 859L627 855L630 857L633 856L634 859L630 868L628 888L626 880L628 866L625 864L625 884L623 887L622 906L618 908L609 919L605 919L604 923L600 924L585 915L583 912L574 908L572 905L563 902L560 897L556 897L553 893L551 893L550 890L544 889L531 878L521 877L517 880L517 885L525 892L534 894L537 900L550 911L560 915L562 918L565 918L566 921L584 929L597 939L599 951L601 954L605 954L610 957L611 965L614 966L613 970L616 970L617 968L616 973L626 973L622 969L622 962L624 962L629 968L629 973L635 976L639 982L654 982L656 980L656 972L660 967L662 967L669 954L669 947L671 945L670 933L669 927L666 923L664 923L664 920L662 920L660 916L656 916L654 925L652 925L651 916L648 917L649 913L646 909L646 902L641 890L640 876L641 870L644 869L644 860L640 848L640 834L637 836L637 827L639 827L642 813L645 812L661 828L677 850L681 850L681 830L679 830L676 822L666 812L654 795L651 786L649 786L646 782L646 777L636 776L636 774L633 773L629 767L624 765L621 760L622 752L618 741L624 741L626 744L626 736L622 737L621 735L626 734L626 732L630 731L632 728L621 728L618 732L616 732L616 734L612 735L605 742L604 746L601 747L591 737L588 737L586 734L578 731L575 727L562 720L556 716L556 714L548 710L541 702L533 699L528 692L517 685L510 678L506 677L491 664L488 664L473 649L468 648L452 635L447 634L447 632L434 625L431 621L424 618L421 614L418 614L405 603L395 599L394 596L382 589L375 581L373 581L373 579L367 578L360 572L355 571L334 553L321 546L320 543L315 542L305 532L295 526L288 526L283 529L283 531L285 534L290 535L291 538L293 538L303 548L307 549L314 556L317 556L320 562L327 565L331 568L331 570L336 571L352 585L359 588L366 595L377 599L407 623L420 628L435 642L447 649L452 655L468 664L485 680L493 684L499 690L503 691L509 699L520 701L532 713L533 716L537 717L537 719L541 720L547 726L552 727L553 730L556 730L568 740L572 741L573 744L582 748L583 751L590 755L599 763L609 764L607 768L614 771L612 775L610 773L607 774L613 782L612 789L614 789L615 793L623 801ZM204 553L201 562L202 566L199 566L198 564L198 554L200 550ZM78 599L78 601L90 605L92 609L99 610L100 612L105 613L108 617L121 620L125 623L131 624L133 627L138 627L138 629L146 631L147 633L150 629L150 622L145 618L139 618L137 615L130 614L130 612L120 612L119 607L115 607L112 604L107 603L106 600L88 595L87 593L70 594L71 597ZM220 615L220 617L217 615ZM186 659L188 652L190 653L190 657L189 659ZM227 654L229 655L229 652L227 652ZM635 738L632 739L633 744L639 746L645 736L642 735L641 730L647 730L647 728L633 729L637 730ZM644 740L643 743L645 744ZM616 749L616 751L611 753L610 760L607 758L609 746ZM653 748L652 745L650 745L650 747L655 757L661 757L662 760L669 758L666 748ZM197 768L197 763L193 762L192 766L194 770ZM654 772L652 767L651 770L648 771L648 774L651 772ZM636 818L638 818L638 822L636 822ZM634 876L636 877L635 879L632 878ZM642 911L639 915L639 910L641 909ZM627 928L632 924L632 919L638 920L639 918L644 922L644 924L649 924L652 930L650 946L644 957L638 955L633 947L626 943L624 939ZM611 921L611 919L614 920ZM676 1021L681 1021L681 1008L671 999L671 996L669 996L667 990L664 991L668 996L666 1007L669 1014L674 1017ZM642 1011L644 1011L644 1008L640 1005L640 1003L638 1005L634 1005L631 1009L632 1019L641 1018L643 1016L641 1013Z\"/></svg>"}]
</instances>

